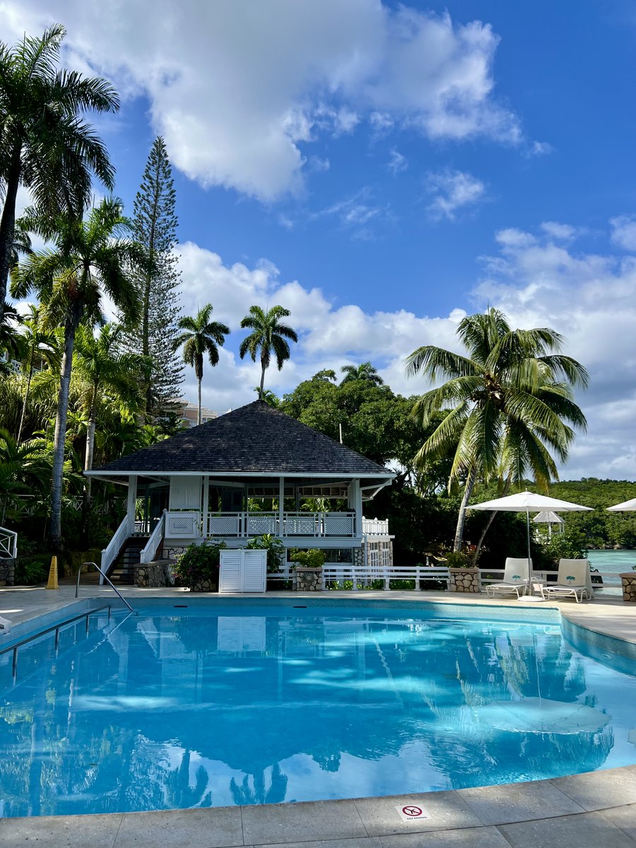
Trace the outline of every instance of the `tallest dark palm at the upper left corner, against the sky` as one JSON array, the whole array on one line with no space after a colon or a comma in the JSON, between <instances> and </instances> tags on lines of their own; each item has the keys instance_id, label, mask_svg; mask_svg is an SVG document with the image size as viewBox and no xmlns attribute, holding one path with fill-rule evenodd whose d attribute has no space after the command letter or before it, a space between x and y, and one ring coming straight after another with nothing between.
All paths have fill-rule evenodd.
<instances>
[{"instance_id":1,"label":"tallest dark palm at the upper left corner, against the sky","mask_svg":"<svg viewBox=\"0 0 636 848\"><path fill-rule=\"evenodd\" d=\"M42 215L81 215L91 195L91 175L114 183L108 152L81 118L90 109L116 112L119 99L109 82L56 70L65 30L49 27L13 49L0 42L0 313L14 259L15 202L20 185Z\"/></svg>"}]
</instances>

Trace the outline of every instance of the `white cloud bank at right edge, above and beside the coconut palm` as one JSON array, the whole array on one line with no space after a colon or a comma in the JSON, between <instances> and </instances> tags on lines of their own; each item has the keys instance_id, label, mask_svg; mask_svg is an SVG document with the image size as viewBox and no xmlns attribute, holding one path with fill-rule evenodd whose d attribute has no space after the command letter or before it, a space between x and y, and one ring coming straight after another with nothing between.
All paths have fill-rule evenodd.
<instances>
[{"instance_id":1,"label":"white cloud bank at right edge, above and beside the coconut palm","mask_svg":"<svg viewBox=\"0 0 636 848\"><path fill-rule=\"evenodd\" d=\"M550 326L585 365L579 393L589 432L579 435L566 477L636 477L636 259L555 244L553 227L497 233L498 255L483 257L475 303L504 310L513 326ZM561 231L564 234L565 231Z\"/></svg>"}]
</instances>

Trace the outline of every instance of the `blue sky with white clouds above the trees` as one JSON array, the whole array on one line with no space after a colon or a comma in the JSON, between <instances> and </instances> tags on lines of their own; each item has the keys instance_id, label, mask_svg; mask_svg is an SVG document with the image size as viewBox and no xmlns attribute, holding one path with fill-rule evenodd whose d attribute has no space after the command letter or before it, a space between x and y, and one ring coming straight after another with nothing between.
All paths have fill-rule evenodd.
<instances>
[{"instance_id":1,"label":"blue sky with white clouds above the trees","mask_svg":"<svg viewBox=\"0 0 636 848\"><path fill-rule=\"evenodd\" d=\"M63 23L64 60L114 81L98 130L128 209L165 136L184 310L209 301L233 331L207 406L254 399L253 303L300 334L277 393L363 360L419 392L404 356L456 348L457 321L494 304L589 367L564 476L636 478L633 3L3 0L2 17L8 41Z\"/></svg>"}]
</instances>

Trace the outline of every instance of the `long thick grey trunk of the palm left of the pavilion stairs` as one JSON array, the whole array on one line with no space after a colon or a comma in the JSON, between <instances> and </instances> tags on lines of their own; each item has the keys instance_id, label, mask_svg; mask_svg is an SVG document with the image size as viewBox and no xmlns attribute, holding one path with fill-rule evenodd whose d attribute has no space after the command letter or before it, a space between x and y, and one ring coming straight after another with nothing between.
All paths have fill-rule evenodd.
<instances>
[{"instance_id":1,"label":"long thick grey trunk of the palm left of the pavilion stairs","mask_svg":"<svg viewBox=\"0 0 636 848\"><path fill-rule=\"evenodd\" d=\"M53 437L53 480L51 485L51 523L48 541L53 552L62 548L62 487L64 485L64 445L66 442L66 419L69 412L70 373L73 367L75 331L80 323L81 305L76 301L64 326L64 355L59 377L58 411L55 416Z\"/></svg>"}]
</instances>

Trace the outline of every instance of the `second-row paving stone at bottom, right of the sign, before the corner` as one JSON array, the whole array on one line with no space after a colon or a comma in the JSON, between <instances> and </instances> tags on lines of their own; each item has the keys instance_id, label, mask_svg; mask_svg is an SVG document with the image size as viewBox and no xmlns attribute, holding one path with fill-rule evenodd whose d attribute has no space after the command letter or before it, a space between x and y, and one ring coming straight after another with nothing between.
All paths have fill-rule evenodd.
<instances>
[{"instance_id":1,"label":"second-row paving stone at bottom, right of the sign, before the corner","mask_svg":"<svg viewBox=\"0 0 636 848\"><path fill-rule=\"evenodd\" d=\"M600 812L502 824L512 848L634 848L633 840Z\"/></svg>"}]
</instances>

